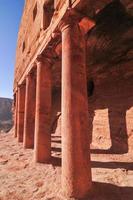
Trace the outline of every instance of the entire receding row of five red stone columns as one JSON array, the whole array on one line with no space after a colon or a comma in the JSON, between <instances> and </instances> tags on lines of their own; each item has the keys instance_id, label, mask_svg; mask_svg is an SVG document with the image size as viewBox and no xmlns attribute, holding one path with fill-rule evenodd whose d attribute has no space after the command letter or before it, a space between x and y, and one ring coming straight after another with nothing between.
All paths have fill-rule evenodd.
<instances>
[{"instance_id":1,"label":"entire receding row of five red stone columns","mask_svg":"<svg viewBox=\"0 0 133 200\"><path fill-rule=\"evenodd\" d=\"M62 34L62 190L82 198L91 188L86 84L86 43L75 20L61 22ZM15 136L34 147L36 162L51 160L52 62L39 55L16 90Z\"/></svg>"}]
</instances>

